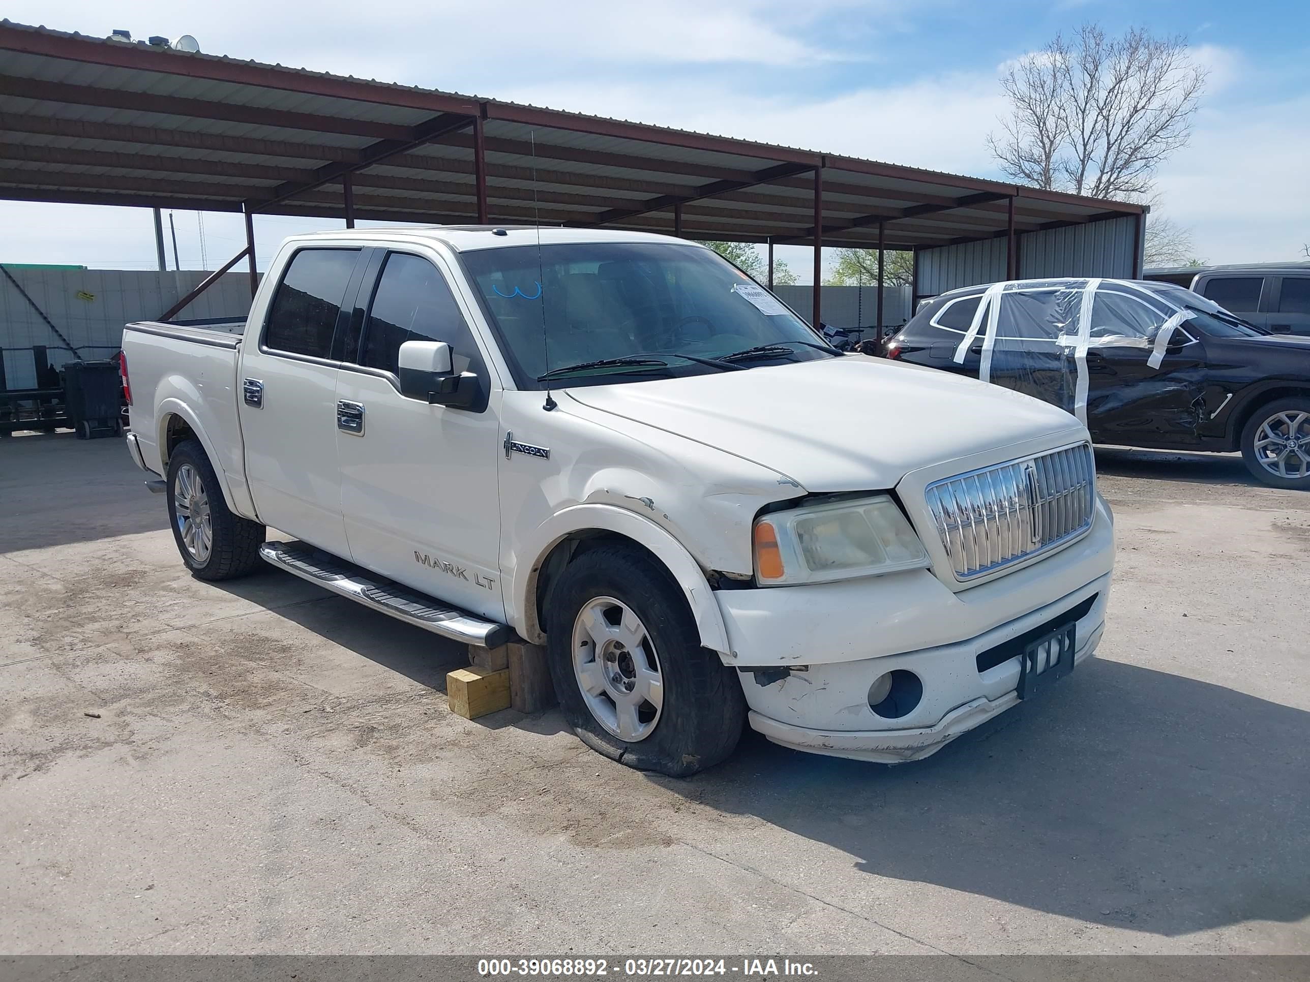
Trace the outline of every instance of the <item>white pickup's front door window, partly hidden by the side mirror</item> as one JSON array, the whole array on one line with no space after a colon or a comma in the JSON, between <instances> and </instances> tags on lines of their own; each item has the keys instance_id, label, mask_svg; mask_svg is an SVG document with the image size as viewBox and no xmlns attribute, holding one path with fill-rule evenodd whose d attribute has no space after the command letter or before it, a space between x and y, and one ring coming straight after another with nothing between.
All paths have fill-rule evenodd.
<instances>
[{"instance_id":1,"label":"white pickup's front door window, partly hidden by the side mirror","mask_svg":"<svg viewBox=\"0 0 1310 982\"><path fill-rule=\"evenodd\" d=\"M444 340L456 372L485 374L482 354L445 278L427 259L392 253L364 322L364 364L397 372L407 340Z\"/></svg>"}]
</instances>

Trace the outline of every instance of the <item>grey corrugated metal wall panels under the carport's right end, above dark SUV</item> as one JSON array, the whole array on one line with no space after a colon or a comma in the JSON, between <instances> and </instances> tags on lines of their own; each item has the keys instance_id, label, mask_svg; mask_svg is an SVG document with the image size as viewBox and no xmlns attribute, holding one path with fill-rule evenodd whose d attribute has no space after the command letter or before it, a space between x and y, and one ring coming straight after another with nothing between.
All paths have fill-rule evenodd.
<instances>
[{"instance_id":1,"label":"grey corrugated metal wall panels under the carport's right end, above dark SUV","mask_svg":"<svg viewBox=\"0 0 1310 982\"><path fill-rule=\"evenodd\" d=\"M1015 236L1019 279L1107 276L1132 279L1138 268L1137 216ZM1005 279L1005 237L918 250L918 296Z\"/></svg>"}]
</instances>

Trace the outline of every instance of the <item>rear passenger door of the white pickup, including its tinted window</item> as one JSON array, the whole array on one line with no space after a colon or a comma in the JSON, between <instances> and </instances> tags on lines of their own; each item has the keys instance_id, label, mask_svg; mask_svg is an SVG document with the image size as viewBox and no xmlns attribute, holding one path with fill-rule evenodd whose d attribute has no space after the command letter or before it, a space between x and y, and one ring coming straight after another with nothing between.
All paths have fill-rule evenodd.
<instances>
[{"instance_id":1,"label":"rear passenger door of the white pickup, including its tinted window","mask_svg":"<svg viewBox=\"0 0 1310 982\"><path fill-rule=\"evenodd\" d=\"M333 336L338 321L350 317L347 295L358 287L359 266L359 249L308 247L292 254L258 343L241 346L236 395L259 520L338 555L347 545Z\"/></svg>"}]
</instances>

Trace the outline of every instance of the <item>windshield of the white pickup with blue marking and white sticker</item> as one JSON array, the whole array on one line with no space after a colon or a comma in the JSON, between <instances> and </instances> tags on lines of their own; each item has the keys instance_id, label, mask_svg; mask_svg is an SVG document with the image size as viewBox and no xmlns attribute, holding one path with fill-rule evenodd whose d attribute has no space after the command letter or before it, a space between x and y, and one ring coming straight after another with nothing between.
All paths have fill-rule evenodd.
<instances>
[{"instance_id":1,"label":"windshield of the white pickup with blue marking and white sticker","mask_svg":"<svg viewBox=\"0 0 1310 982\"><path fill-rule=\"evenodd\" d=\"M557 384L595 385L837 354L810 347L824 344L804 321L700 246L584 242L460 258L520 388L545 388L538 380L548 372L558 373ZM774 344L732 365L714 364Z\"/></svg>"}]
</instances>

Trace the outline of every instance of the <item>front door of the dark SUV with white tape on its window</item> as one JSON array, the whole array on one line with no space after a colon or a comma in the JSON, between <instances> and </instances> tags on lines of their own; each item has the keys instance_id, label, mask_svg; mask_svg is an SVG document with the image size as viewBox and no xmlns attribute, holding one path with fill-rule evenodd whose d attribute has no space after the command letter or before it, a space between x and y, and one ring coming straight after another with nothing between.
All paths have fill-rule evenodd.
<instances>
[{"instance_id":1,"label":"front door of the dark SUV with white tape on its window","mask_svg":"<svg viewBox=\"0 0 1310 982\"><path fill-rule=\"evenodd\" d=\"M1096 443L1196 443L1204 410L1205 348L1187 322L1153 364L1157 333L1174 313L1136 291L1102 285L1093 300L1087 348L1087 428Z\"/></svg>"}]
</instances>

